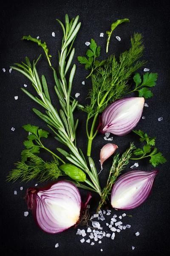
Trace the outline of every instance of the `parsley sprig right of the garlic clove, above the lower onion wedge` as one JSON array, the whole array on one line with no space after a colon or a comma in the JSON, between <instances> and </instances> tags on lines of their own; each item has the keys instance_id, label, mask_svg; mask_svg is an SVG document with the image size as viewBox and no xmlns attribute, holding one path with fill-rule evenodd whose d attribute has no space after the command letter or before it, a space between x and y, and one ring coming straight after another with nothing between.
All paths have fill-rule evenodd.
<instances>
[{"instance_id":1,"label":"parsley sprig right of the garlic clove, above the lower onion wedge","mask_svg":"<svg viewBox=\"0 0 170 256\"><path fill-rule=\"evenodd\" d=\"M137 148L135 151L133 151L133 154L135 154L136 156L142 155L142 157L130 158L131 160L139 160L145 157L150 157L149 162L154 167L156 167L159 163L167 162L166 158L162 155L161 152L158 152L157 148L151 148L151 146L155 145L156 137L148 137L147 134L144 134L144 132L141 130L133 130L133 132L141 137L140 141L146 141L147 144L143 146L143 149Z\"/></svg>"}]
</instances>

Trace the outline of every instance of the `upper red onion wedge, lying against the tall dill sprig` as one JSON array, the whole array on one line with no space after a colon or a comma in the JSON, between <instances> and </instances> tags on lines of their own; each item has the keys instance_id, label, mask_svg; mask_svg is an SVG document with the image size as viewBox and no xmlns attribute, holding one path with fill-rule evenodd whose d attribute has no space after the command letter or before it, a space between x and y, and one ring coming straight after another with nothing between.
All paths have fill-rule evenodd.
<instances>
[{"instance_id":1,"label":"upper red onion wedge, lying against the tall dill sprig","mask_svg":"<svg viewBox=\"0 0 170 256\"><path fill-rule=\"evenodd\" d=\"M128 134L139 122L144 107L143 97L119 99L102 113L98 131L122 136Z\"/></svg>"}]
</instances>

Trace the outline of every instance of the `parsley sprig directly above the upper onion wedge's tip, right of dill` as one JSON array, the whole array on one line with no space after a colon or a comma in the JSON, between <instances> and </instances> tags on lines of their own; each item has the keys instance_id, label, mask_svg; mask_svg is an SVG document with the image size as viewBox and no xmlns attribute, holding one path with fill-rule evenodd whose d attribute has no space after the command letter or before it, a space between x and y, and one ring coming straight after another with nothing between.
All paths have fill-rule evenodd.
<instances>
[{"instance_id":1,"label":"parsley sprig directly above the upper onion wedge's tip, right of dill","mask_svg":"<svg viewBox=\"0 0 170 256\"><path fill-rule=\"evenodd\" d=\"M138 91L139 97L144 97L145 99L152 97L153 93L147 87L155 86L156 85L155 81L157 80L157 77L158 77L157 73L146 73L143 75L143 82L142 82L141 76L139 75L139 73L136 73L135 76L133 77L133 80L136 83L135 89L131 90L130 92L127 92L125 94L132 93L134 91ZM147 87L144 87L144 86L147 86ZM143 87L143 88L141 88L141 87ZM139 89L139 88L141 88L141 89Z\"/></svg>"}]
</instances>

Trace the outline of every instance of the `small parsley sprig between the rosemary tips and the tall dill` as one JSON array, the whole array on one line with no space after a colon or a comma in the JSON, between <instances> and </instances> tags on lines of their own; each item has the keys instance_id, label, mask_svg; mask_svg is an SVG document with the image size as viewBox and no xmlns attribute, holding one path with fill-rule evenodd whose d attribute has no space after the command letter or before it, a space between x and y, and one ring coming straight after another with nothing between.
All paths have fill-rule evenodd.
<instances>
[{"instance_id":1,"label":"small parsley sprig between the rosemary tips and the tall dill","mask_svg":"<svg viewBox=\"0 0 170 256\"><path fill-rule=\"evenodd\" d=\"M87 79L96 68L104 65L106 60L96 61L96 58L100 56L100 46L97 47L94 39L91 39L90 49L87 50L86 55L88 59L82 56L78 56L77 59L81 64L85 64L86 70L91 69L91 73L86 77Z\"/></svg>"}]
</instances>

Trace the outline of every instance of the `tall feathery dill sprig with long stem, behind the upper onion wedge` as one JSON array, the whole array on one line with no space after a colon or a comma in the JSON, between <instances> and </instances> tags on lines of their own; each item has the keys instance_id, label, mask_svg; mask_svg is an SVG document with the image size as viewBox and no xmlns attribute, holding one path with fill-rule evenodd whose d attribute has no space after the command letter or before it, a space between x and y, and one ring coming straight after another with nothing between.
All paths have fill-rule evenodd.
<instances>
[{"instance_id":1,"label":"tall feathery dill sprig with long stem, behind the upper onion wedge","mask_svg":"<svg viewBox=\"0 0 170 256\"><path fill-rule=\"evenodd\" d=\"M114 55L110 55L105 62L104 67L99 67L95 74L91 76L92 89L88 93L91 104L82 110L88 113L86 132L88 136L88 152L91 155L92 140L97 134L94 132L96 119L111 102L121 99L130 87L129 79L131 75L144 65L144 61L139 61L142 57L144 45L142 44L142 35L135 33L131 37L131 48L121 53L119 61ZM88 132L89 119L93 119L90 133Z\"/></svg>"}]
</instances>

